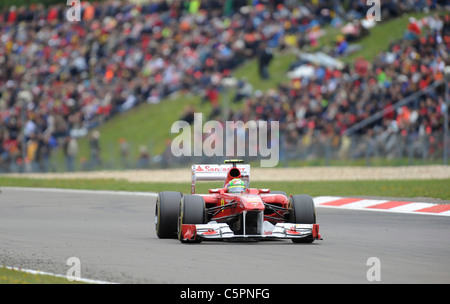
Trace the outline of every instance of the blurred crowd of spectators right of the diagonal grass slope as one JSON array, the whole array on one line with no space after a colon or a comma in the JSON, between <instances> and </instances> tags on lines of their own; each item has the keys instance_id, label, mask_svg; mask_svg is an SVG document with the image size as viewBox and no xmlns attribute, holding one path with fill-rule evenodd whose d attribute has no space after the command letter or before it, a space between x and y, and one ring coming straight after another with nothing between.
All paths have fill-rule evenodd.
<instances>
[{"instance_id":1,"label":"blurred crowd of spectators right of the diagonal grass slope","mask_svg":"<svg viewBox=\"0 0 450 304\"><path fill-rule=\"evenodd\" d=\"M257 92L231 119L280 121L286 159L442 156L449 64L450 15L410 18L403 39L373 61L357 59L343 69L310 64L312 77ZM394 108L407 97L410 103ZM347 134L377 113L383 115Z\"/></svg>"}]
</instances>

